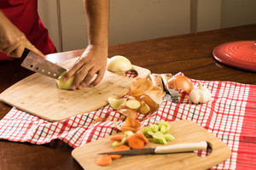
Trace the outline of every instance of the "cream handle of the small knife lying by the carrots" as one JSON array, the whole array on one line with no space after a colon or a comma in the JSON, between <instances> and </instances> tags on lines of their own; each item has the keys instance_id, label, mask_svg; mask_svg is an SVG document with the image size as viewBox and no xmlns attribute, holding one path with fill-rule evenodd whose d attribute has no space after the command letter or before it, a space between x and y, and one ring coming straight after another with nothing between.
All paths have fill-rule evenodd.
<instances>
[{"instance_id":1,"label":"cream handle of the small knife lying by the carrots","mask_svg":"<svg viewBox=\"0 0 256 170\"><path fill-rule=\"evenodd\" d=\"M183 144L171 144L167 146L157 146L154 150L154 153L163 154L163 153L176 153L176 152L186 152L194 150L206 150L207 142L201 141L198 143L183 143Z\"/></svg>"}]
</instances>

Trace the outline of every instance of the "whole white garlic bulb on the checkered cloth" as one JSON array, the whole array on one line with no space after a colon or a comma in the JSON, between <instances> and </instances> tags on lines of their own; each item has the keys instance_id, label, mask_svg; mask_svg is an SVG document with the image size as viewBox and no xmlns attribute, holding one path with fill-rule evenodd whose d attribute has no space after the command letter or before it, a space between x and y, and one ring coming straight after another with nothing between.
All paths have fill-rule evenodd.
<instances>
[{"instance_id":1,"label":"whole white garlic bulb on the checkered cloth","mask_svg":"<svg viewBox=\"0 0 256 170\"><path fill-rule=\"evenodd\" d=\"M189 94L189 100L195 104L205 104L211 99L209 89L202 87L201 82L198 82L198 87L194 88Z\"/></svg>"}]
</instances>

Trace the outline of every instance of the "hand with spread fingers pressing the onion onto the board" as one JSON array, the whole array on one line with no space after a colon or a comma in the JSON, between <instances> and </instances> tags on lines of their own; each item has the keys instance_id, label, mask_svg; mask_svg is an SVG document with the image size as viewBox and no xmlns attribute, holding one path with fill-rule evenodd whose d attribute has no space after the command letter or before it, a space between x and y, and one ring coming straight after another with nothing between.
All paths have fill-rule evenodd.
<instances>
[{"instance_id":1,"label":"hand with spread fingers pressing the onion onto the board","mask_svg":"<svg viewBox=\"0 0 256 170\"><path fill-rule=\"evenodd\" d=\"M84 88L87 85L90 87L96 86L102 81L106 71L107 59L108 46L102 47L96 44L90 44L71 69L62 77L62 80L66 82L68 78L74 75L75 78L71 85L73 90ZM96 79L90 82L95 75Z\"/></svg>"}]
</instances>

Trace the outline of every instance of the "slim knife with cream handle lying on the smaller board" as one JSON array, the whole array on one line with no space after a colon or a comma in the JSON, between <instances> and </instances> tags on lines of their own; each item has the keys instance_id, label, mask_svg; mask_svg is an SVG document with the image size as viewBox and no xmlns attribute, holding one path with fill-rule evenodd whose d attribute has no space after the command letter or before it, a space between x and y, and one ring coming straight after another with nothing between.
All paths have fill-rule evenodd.
<instances>
[{"instance_id":1,"label":"slim knife with cream handle lying on the smaller board","mask_svg":"<svg viewBox=\"0 0 256 170\"><path fill-rule=\"evenodd\" d=\"M206 150L207 142L201 141L198 143L181 143L171 144L166 146L156 146L156 148L144 148L139 150L122 150L103 152L100 155L145 155L145 154L166 154L166 153L180 153L194 150Z\"/></svg>"}]
</instances>

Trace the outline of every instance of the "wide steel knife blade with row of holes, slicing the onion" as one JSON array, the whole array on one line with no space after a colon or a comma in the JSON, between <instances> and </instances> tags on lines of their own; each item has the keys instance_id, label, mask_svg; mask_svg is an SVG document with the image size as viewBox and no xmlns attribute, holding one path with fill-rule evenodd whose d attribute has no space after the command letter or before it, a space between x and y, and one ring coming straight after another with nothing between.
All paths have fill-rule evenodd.
<instances>
[{"instance_id":1,"label":"wide steel knife blade with row of holes, slicing the onion","mask_svg":"<svg viewBox=\"0 0 256 170\"><path fill-rule=\"evenodd\" d=\"M27 48L25 48L22 57L26 58L21 63L21 66L47 77L56 79L61 75L63 71L67 71L63 67L55 65L49 60L42 59L40 56L38 56L38 54L35 54Z\"/></svg>"}]
</instances>

